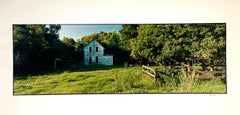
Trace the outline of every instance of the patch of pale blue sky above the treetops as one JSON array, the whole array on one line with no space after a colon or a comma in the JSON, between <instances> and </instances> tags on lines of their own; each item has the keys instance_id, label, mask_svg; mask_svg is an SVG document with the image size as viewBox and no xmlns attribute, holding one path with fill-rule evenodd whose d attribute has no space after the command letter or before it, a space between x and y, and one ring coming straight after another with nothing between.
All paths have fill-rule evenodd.
<instances>
[{"instance_id":1,"label":"patch of pale blue sky above the treetops","mask_svg":"<svg viewBox=\"0 0 240 115\"><path fill-rule=\"evenodd\" d=\"M121 29L121 25L116 24L79 24L79 25L61 25L61 30L59 31L60 39L64 36L73 38L75 41L77 39L82 38L83 36L98 33L100 31L111 32L111 31L119 31Z\"/></svg>"}]
</instances>

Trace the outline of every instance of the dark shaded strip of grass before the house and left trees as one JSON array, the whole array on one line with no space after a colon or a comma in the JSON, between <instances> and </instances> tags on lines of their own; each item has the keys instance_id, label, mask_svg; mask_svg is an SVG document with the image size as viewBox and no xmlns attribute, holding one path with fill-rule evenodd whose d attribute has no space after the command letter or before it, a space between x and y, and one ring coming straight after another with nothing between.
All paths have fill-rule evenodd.
<instances>
[{"instance_id":1,"label":"dark shaded strip of grass before the house and left trees","mask_svg":"<svg viewBox=\"0 0 240 115\"><path fill-rule=\"evenodd\" d=\"M28 75L14 76L14 80L27 79L31 76L41 76L41 75L54 75L60 74L65 71L68 72L87 72L87 71L96 71L96 70L111 70L116 68L124 68L124 65L82 65L82 64L73 64L70 66L65 66L57 69L51 69L47 71L34 72Z\"/></svg>"}]
</instances>

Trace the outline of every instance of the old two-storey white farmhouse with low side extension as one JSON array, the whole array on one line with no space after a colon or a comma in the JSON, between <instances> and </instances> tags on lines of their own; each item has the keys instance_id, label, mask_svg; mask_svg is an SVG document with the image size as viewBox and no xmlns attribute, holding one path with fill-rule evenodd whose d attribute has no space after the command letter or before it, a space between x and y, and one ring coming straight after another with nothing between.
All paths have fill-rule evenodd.
<instances>
[{"instance_id":1,"label":"old two-storey white farmhouse with low side extension","mask_svg":"<svg viewBox=\"0 0 240 115\"><path fill-rule=\"evenodd\" d=\"M84 51L84 64L102 64L113 65L113 56L104 55L104 47L93 39L83 48Z\"/></svg>"}]
</instances>

